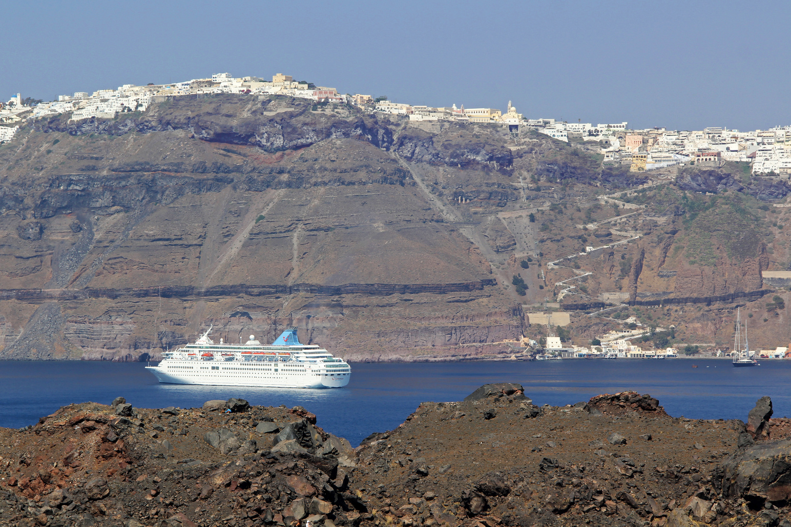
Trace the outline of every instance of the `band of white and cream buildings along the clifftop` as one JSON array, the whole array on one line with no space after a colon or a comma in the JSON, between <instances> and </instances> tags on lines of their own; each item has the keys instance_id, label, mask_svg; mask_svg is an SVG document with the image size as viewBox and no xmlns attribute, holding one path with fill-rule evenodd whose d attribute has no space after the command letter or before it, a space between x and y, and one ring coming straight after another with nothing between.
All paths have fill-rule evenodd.
<instances>
[{"instance_id":1,"label":"band of white and cream buildings along the clifftop","mask_svg":"<svg viewBox=\"0 0 791 527\"><path fill-rule=\"evenodd\" d=\"M116 115L146 111L152 101L174 96L201 96L233 93L250 96L280 95L312 100L316 104L351 104L364 110L403 115L411 122L480 122L499 123L511 130L528 126L558 141L570 139L595 141L601 145L605 165L628 165L630 171L652 171L681 164L719 167L725 161L751 163L753 174L789 175L791 173L791 126L770 130L740 132L721 126L704 130L630 130L627 122L562 122L556 119L525 119L508 103L505 112L495 108L428 107L394 103L384 97L339 93L335 88L316 86L308 81L294 81L290 75L276 73L271 81L261 77L233 77L214 73L210 78L193 79L168 85L101 89L89 95L76 92L58 96L58 100L25 104L17 93L6 104L0 103L0 123L13 124L24 119L70 113L70 119L114 119ZM37 104L36 104L37 102ZM9 141L18 126L0 126L0 143Z\"/></svg>"}]
</instances>

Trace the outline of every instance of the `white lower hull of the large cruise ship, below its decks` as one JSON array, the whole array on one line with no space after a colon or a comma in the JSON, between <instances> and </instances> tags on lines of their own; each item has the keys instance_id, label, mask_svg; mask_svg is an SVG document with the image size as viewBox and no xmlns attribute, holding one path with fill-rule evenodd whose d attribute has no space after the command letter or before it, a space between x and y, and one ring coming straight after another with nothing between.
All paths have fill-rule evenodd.
<instances>
[{"instance_id":1,"label":"white lower hull of the large cruise ship, below its decks","mask_svg":"<svg viewBox=\"0 0 791 527\"><path fill-rule=\"evenodd\" d=\"M178 366L179 363L173 363ZM189 367L191 365L186 365ZM267 388L342 388L350 374L237 373L226 371L176 372L164 367L146 366L159 382L167 384L201 384L206 386L261 386Z\"/></svg>"}]
</instances>

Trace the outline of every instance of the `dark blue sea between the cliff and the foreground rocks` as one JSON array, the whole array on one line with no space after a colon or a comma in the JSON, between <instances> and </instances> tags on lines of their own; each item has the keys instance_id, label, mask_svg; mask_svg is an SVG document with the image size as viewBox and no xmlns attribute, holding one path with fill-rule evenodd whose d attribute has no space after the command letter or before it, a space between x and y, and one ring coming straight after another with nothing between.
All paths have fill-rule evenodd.
<instances>
[{"instance_id":1,"label":"dark blue sea between the cliff and the foreground rocks","mask_svg":"<svg viewBox=\"0 0 791 527\"><path fill-rule=\"evenodd\" d=\"M357 446L372 432L397 427L423 401L461 401L488 382L519 382L536 405L635 390L657 397L671 416L747 420L755 401L768 395L774 416L791 415L791 360L746 368L721 359L353 363L349 385L332 390L160 384L145 366L0 361L0 427L25 427L64 405L108 405L119 396L140 408L192 408L240 397L252 405L303 406L324 430Z\"/></svg>"}]
</instances>

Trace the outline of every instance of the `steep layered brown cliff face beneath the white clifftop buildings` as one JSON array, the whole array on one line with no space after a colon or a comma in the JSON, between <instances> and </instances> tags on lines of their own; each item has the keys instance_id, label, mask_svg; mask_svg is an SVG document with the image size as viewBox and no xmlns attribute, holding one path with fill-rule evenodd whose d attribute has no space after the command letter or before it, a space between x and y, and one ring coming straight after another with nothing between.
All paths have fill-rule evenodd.
<instances>
[{"instance_id":1,"label":"steep layered brown cliff face beneath the white clifftop buildings","mask_svg":"<svg viewBox=\"0 0 791 527\"><path fill-rule=\"evenodd\" d=\"M685 171L646 208L596 197L648 178L592 153L282 97L32 122L0 145L0 357L157 358L209 325L236 342L291 324L355 360L510 356L524 304L764 294L787 235L729 198L747 186ZM578 272L546 262L630 236L577 260L581 287L554 287Z\"/></svg>"}]
</instances>

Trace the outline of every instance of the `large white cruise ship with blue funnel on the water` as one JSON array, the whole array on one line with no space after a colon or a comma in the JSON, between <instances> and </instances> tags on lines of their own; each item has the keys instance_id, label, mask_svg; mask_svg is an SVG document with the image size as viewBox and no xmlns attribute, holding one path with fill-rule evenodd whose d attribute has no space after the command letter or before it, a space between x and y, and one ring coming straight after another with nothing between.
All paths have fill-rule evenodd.
<instances>
[{"instance_id":1,"label":"large white cruise ship with blue funnel on the water","mask_svg":"<svg viewBox=\"0 0 791 527\"><path fill-rule=\"evenodd\" d=\"M250 335L244 344L215 344L206 330L194 344L162 353L157 366L147 366L159 382L211 386L271 388L340 388L349 384L351 368L316 344L300 344L290 327L271 345Z\"/></svg>"}]
</instances>

